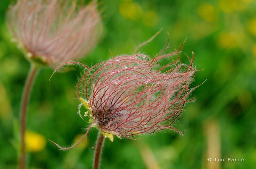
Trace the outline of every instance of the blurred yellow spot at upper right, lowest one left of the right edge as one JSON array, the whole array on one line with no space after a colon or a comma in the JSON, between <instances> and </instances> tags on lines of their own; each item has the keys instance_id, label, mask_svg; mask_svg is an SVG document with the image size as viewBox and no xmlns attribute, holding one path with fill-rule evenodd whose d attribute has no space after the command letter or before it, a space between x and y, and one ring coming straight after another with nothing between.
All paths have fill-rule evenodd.
<instances>
[{"instance_id":1,"label":"blurred yellow spot at upper right, lowest one left of the right edge","mask_svg":"<svg viewBox=\"0 0 256 169\"><path fill-rule=\"evenodd\" d=\"M237 46L236 35L231 32L223 32L220 33L219 37L219 45L223 48L234 48Z\"/></svg>"}]
</instances>

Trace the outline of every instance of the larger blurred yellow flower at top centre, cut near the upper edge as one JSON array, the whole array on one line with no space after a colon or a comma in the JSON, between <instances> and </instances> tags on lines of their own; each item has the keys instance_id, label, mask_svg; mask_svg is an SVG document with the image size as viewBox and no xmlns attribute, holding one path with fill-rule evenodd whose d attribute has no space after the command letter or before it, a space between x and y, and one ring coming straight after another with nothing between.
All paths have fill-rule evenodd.
<instances>
[{"instance_id":1,"label":"larger blurred yellow flower at top centre, cut near the upper edge","mask_svg":"<svg viewBox=\"0 0 256 169\"><path fill-rule=\"evenodd\" d=\"M122 2L119 11L124 18L138 20L143 11L139 4L133 2Z\"/></svg>"}]
</instances>

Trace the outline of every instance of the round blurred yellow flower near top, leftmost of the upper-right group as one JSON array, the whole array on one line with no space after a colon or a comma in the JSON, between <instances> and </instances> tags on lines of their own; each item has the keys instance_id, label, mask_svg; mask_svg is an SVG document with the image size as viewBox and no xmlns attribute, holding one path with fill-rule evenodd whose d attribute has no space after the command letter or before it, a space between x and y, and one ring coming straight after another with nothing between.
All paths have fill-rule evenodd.
<instances>
[{"instance_id":1,"label":"round blurred yellow flower near top, leftmost of the upper-right group","mask_svg":"<svg viewBox=\"0 0 256 169\"><path fill-rule=\"evenodd\" d=\"M217 9L208 3L201 4L197 10L198 15L208 22L214 22L218 19Z\"/></svg>"}]
</instances>

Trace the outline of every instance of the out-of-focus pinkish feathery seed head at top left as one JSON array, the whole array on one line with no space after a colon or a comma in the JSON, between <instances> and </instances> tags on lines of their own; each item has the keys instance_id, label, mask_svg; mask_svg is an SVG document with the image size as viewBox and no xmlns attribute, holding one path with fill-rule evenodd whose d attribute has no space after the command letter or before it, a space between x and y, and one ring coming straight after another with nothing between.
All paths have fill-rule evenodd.
<instances>
[{"instance_id":1,"label":"out-of-focus pinkish feathery seed head at top left","mask_svg":"<svg viewBox=\"0 0 256 169\"><path fill-rule=\"evenodd\" d=\"M7 25L28 59L50 66L85 56L102 32L96 1L78 7L75 0L18 0Z\"/></svg>"}]
</instances>

